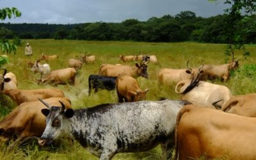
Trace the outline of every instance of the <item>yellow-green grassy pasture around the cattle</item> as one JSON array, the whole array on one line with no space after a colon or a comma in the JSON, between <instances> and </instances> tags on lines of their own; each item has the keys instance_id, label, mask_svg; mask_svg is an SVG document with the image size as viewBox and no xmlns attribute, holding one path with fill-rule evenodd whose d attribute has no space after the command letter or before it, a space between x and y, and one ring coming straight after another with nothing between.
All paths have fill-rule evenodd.
<instances>
[{"instance_id":1,"label":"yellow-green grassy pasture around the cattle","mask_svg":"<svg viewBox=\"0 0 256 160\"><path fill-rule=\"evenodd\" d=\"M33 56L25 56L25 44L29 42L33 50ZM230 88L233 95L242 95L256 92L256 45L246 46L251 52L249 61L243 59L242 52L236 52L235 58L239 60L240 67L232 72L227 83L220 79L212 81L216 84L224 84ZM98 93L92 92L88 97L88 77L90 74L98 74L99 67L103 63L120 63L134 65L134 62L124 63L119 60L120 54L139 55L154 54L157 56L159 65L148 63L149 79L138 77L138 83L142 90L150 88L146 100L158 100L161 97L167 99L179 99L180 95L174 92L175 85L164 86L157 83L157 73L161 68L186 68L186 62L190 60L191 67L199 67L202 63L221 65L225 63L224 44L200 44L194 42L183 43L143 43L143 42L88 42L76 40L22 40L22 46L18 47L16 54L9 54L11 64L5 65L9 72L17 76L19 89L53 88L49 84L37 84L39 74L31 72L28 61L36 61L42 55L56 54L57 60L48 61L51 70L68 67L68 60L79 59L81 53L96 56L95 63L84 64L76 76L74 86L58 85L66 97L72 101L72 108L88 108L97 104L117 102L116 92L102 90ZM41 63L45 63L42 61ZM140 62L138 62L140 63ZM3 117L2 117L3 118ZM26 143L14 150L9 150L8 145L0 144L0 156L3 159L97 159L92 156L79 143L68 144L63 140L59 147L38 147L34 143ZM113 159L165 159L166 150L156 147L148 152L136 152L117 154Z\"/></svg>"}]
</instances>

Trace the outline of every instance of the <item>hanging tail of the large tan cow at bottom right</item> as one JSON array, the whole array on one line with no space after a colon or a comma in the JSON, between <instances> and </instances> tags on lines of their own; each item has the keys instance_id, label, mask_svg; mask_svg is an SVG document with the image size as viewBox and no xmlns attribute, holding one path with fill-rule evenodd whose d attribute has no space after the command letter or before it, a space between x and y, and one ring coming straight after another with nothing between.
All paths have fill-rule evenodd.
<instances>
[{"instance_id":1,"label":"hanging tail of the large tan cow at bottom right","mask_svg":"<svg viewBox=\"0 0 256 160\"><path fill-rule=\"evenodd\" d=\"M178 144L178 127L180 123L180 119L182 115L190 110L189 107L184 106L183 108L180 109L177 117L176 117L176 124L175 124L175 154L173 156L173 160L177 160L179 156L179 144Z\"/></svg>"}]
</instances>

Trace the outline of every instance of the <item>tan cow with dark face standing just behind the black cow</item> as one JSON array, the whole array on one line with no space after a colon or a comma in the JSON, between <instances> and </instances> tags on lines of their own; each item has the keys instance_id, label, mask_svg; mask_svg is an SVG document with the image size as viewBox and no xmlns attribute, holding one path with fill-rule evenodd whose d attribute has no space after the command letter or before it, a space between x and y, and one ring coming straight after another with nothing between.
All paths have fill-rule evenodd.
<instances>
[{"instance_id":1,"label":"tan cow with dark face standing just behind the black cow","mask_svg":"<svg viewBox=\"0 0 256 160\"><path fill-rule=\"evenodd\" d=\"M135 64L134 67L128 65L110 65L103 64L100 66L99 75L101 76L110 76L118 77L119 75L125 74L137 78L139 76L148 78L147 65L140 63Z\"/></svg>"}]
</instances>

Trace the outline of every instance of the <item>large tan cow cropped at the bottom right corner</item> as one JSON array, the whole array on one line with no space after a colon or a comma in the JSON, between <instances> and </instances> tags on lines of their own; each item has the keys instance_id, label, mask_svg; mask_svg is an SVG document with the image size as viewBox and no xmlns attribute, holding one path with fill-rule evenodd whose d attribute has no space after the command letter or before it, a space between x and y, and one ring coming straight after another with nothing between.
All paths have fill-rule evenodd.
<instances>
[{"instance_id":1,"label":"large tan cow cropped at the bottom right corner","mask_svg":"<svg viewBox=\"0 0 256 160\"><path fill-rule=\"evenodd\" d=\"M256 159L256 119L184 106L177 115L174 159Z\"/></svg>"}]
</instances>

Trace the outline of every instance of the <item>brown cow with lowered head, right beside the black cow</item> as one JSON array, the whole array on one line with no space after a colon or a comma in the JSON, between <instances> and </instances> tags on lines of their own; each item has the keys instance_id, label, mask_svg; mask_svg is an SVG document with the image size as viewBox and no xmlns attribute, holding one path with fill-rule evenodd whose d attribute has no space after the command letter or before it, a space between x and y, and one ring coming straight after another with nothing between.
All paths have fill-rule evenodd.
<instances>
[{"instance_id":1,"label":"brown cow with lowered head, right beside the black cow","mask_svg":"<svg viewBox=\"0 0 256 160\"><path fill-rule=\"evenodd\" d=\"M134 77L122 75L116 79L118 102L137 102L143 100L149 89L141 90Z\"/></svg>"}]
</instances>

